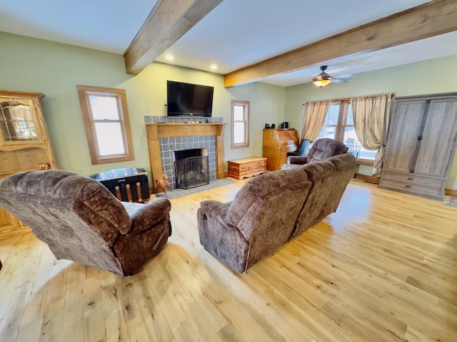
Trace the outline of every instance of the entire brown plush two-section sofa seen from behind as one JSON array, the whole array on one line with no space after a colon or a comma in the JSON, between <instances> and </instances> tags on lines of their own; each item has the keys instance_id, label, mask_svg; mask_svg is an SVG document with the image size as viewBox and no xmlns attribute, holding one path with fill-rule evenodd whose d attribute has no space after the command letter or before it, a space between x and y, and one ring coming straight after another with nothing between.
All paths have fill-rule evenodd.
<instances>
[{"instance_id":1,"label":"entire brown plush two-section sofa seen from behind","mask_svg":"<svg viewBox=\"0 0 457 342\"><path fill-rule=\"evenodd\" d=\"M203 201L200 242L234 271L246 271L335 212L357 167L353 155L337 155L254 177L233 202Z\"/></svg>"}]
</instances>

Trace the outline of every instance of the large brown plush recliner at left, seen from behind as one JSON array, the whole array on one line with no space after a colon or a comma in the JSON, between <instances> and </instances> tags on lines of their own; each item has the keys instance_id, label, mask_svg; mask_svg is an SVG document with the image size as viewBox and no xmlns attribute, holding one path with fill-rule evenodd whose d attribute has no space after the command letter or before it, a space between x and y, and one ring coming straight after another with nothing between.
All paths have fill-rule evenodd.
<instances>
[{"instance_id":1,"label":"large brown plush recliner at left, seen from behind","mask_svg":"<svg viewBox=\"0 0 457 342\"><path fill-rule=\"evenodd\" d=\"M57 259L122 276L138 272L171 234L168 199L120 202L96 180L64 170L6 177L0 206L29 226Z\"/></svg>"}]
</instances>

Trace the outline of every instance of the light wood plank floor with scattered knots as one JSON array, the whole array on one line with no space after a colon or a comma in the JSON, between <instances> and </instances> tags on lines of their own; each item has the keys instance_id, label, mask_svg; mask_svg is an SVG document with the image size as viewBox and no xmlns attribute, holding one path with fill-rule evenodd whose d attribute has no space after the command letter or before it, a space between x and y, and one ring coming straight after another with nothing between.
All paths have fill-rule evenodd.
<instances>
[{"instance_id":1,"label":"light wood plank floor with scattered knots","mask_svg":"<svg viewBox=\"0 0 457 342\"><path fill-rule=\"evenodd\" d=\"M56 260L24 229L0 241L0 341L457 341L457 209L352 181L336 213L236 274L199 244L203 199L122 278ZM134 248L134 247L132 247Z\"/></svg>"}]
</instances>

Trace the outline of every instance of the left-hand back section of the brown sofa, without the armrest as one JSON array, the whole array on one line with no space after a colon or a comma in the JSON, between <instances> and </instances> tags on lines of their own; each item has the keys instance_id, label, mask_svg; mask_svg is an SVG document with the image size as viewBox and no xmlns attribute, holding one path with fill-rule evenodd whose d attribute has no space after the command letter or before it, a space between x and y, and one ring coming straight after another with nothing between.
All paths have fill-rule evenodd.
<instances>
[{"instance_id":1,"label":"left-hand back section of the brown sofa, without the armrest","mask_svg":"<svg viewBox=\"0 0 457 342\"><path fill-rule=\"evenodd\" d=\"M269 172L241 187L226 221L250 243L246 269L288 241L310 188L301 169Z\"/></svg>"}]
</instances>

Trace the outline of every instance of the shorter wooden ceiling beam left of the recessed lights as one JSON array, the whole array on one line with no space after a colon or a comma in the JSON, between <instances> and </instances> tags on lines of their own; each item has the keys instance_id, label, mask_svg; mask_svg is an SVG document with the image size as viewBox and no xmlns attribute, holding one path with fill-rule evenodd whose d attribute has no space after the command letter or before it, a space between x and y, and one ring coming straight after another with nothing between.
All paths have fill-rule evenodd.
<instances>
[{"instance_id":1,"label":"shorter wooden ceiling beam left of the recessed lights","mask_svg":"<svg viewBox=\"0 0 457 342\"><path fill-rule=\"evenodd\" d=\"M158 0L124 53L127 73L138 75L222 0Z\"/></svg>"}]
</instances>

